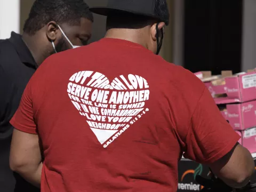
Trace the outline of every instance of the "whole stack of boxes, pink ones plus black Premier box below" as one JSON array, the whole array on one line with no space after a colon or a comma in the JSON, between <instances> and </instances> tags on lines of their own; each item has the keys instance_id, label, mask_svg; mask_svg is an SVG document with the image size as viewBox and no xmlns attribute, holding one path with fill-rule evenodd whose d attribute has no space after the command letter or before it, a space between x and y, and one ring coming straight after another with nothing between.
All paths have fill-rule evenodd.
<instances>
[{"instance_id":1,"label":"whole stack of boxes, pink ones plus black Premier box below","mask_svg":"<svg viewBox=\"0 0 256 192\"><path fill-rule=\"evenodd\" d=\"M256 169L256 70L235 75L222 71L215 76L202 71L195 75L205 83L223 117L241 135L239 142L252 153ZM195 181L195 175L207 178L209 167L182 158L178 172L178 192L200 191L203 186ZM256 182L256 174L251 182Z\"/></svg>"}]
</instances>

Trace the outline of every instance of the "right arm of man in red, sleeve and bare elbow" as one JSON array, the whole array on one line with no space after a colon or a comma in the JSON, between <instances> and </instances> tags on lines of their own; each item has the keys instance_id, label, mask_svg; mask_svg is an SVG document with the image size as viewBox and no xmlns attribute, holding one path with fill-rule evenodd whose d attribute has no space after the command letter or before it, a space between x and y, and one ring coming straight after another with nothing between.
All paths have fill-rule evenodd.
<instances>
[{"instance_id":1,"label":"right arm of man in red, sleeve and bare elbow","mask_svg":"<svg viewBox=\"0 0 256 192\"><path fill-rule=\"evenodd\" d=\"M209 165L230 187L241 188L254 172L254 161L250 152L237 144L238 139L205 89L191 118L185 156Z\"/></svg>"}]
</instances>

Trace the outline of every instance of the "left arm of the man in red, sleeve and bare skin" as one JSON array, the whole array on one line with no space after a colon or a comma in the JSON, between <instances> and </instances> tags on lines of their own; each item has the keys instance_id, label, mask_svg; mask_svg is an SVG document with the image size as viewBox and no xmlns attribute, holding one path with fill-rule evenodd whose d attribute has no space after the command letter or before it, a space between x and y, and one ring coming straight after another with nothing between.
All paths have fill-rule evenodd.
<instances>
[{"instance_id":1,"label":"left arm of the man in red, sleeve and bare skin","mask_svg":"<svg viewBox=\"0 0 256 192\"><path fill-rule=\"evenodd\" d=\"M10 167L36 187L40 187L42 156L34 118L36 104L32 99L33 77L23 92L20 105L10 123L14 127Z\"/></svg>"}]
</instances>

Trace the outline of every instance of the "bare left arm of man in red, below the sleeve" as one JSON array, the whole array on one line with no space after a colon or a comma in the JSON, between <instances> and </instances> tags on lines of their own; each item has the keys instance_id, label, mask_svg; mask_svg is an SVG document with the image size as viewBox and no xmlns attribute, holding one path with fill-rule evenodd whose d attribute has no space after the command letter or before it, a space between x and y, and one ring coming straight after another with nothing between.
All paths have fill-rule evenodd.
<instances>
[{"instance_id":1,"label":"bare left arm of man in red, below the sleeve","mask_svg":"<svg viewBox=\"0 0 256 192\"><path fill-rule=\"evenodd\" d=\"M40 188L42 157L37 134L14 129L12 136L10 167L24 179Z\"/></svg>"}]
</instances>

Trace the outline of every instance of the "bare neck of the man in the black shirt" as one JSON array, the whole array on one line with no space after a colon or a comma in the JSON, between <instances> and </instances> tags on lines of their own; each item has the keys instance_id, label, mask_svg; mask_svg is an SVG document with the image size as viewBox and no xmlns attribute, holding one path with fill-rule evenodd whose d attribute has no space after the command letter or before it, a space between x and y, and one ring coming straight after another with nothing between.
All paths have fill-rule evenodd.
<instances>
[{"instance_id":1,"label":"bare neck of the man in the black shirt","mask_svg":"<svg viewBox=\"0 0 256 192\"><path fill-rule=\"evenodd\" d=\"M45 51L42 49L43 48L43 44L40 43L40 38L38 37L37 34L35 35L29 35L24 33L22 35L22 39L25 42L25 44L27 45L30 53L32 54L32 56L34 57L37 66L41 65L42 62L45 60L45 58L49 57L49 55L45 54ZM39 41L38 41L39 39Z\"/></svg>"}]
</instances>

